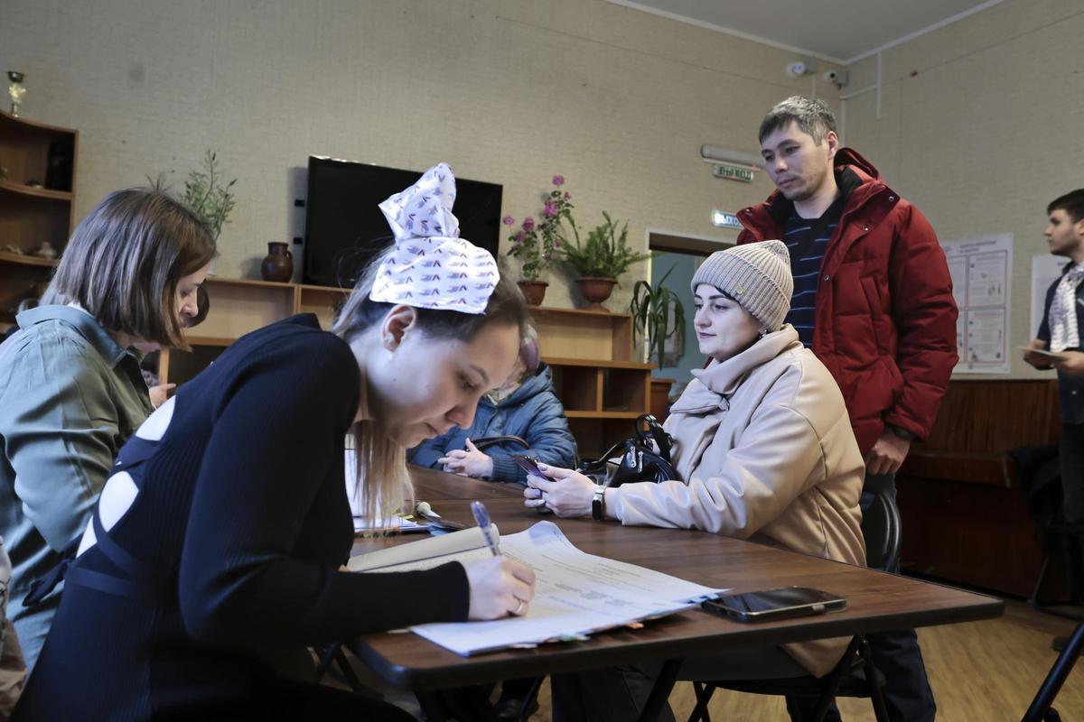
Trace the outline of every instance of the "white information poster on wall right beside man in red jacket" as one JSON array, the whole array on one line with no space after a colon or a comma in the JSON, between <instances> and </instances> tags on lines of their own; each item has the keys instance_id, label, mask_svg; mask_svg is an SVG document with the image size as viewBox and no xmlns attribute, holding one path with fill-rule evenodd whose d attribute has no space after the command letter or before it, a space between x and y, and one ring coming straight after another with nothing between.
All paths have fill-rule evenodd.
<instances>
[{"instance_id":1,"label":"white information poster on wall right beside man in red jacket","mask_svg":"<svg viewBox=\"0 0 1084 722\"><path fill-rule=\"evenodd\" d=\"M956 372L1009 372L1012 235L942 244L959 307Z\"/></svg>"}]
</instances>

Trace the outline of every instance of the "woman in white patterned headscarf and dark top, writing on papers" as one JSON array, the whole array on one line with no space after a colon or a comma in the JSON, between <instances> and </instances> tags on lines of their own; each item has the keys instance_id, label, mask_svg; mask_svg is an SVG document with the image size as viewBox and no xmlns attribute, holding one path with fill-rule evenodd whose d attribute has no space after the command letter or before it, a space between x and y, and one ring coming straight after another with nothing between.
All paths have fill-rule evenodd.
<instances>
[{"instance_id":1,"label":"woman in white patterned headscarf and dark top, writing on papers","mask_svg":"<svg viewBox=\"0 0 1084 722\"><path fill-rule=\"evenodd\" d=\"M311 314L253 331L140 426L67 567L15 719L412 719L287 680L261 653L526 614L533 572L503 556L341 569L347 434L354 494L380 520L412 494L405 448L469 426L519 351L526 302L459 238L454 197L441 163L380 204L396 241L332 331Z\"/></svg>"}]
</instances>

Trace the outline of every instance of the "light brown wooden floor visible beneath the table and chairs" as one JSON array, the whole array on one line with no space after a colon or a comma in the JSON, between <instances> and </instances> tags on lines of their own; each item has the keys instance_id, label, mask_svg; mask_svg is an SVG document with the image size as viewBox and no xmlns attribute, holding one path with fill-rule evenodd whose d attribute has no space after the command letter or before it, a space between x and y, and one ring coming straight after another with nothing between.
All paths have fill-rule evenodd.
<instances>
[{"instance_id":1,"label":"light brown wooden floor visible beneath the table and chairs","mask_svg":"<svg viewBox=\"0 0 1084 722\"><path fill-rule=\"evenodd\" d=\"M918 630L930 684L943 722L1010 722L1019 720L1038 690L1057 653L1056 634L1068 634L1074 622L1034 612L1023 602L1007 601L1001 619ZM549 720L550 687L539 696L532 720ZM693 688L679 684L670 696L679 722L688 719ZM1084 720L1084 662L1073 670L1056 707L1067 722ZM841 699L844 720L873 720L865 699ZM717 692L709 707L713 722L787 720L782 699Z\"/></svg>"}]
</instances>

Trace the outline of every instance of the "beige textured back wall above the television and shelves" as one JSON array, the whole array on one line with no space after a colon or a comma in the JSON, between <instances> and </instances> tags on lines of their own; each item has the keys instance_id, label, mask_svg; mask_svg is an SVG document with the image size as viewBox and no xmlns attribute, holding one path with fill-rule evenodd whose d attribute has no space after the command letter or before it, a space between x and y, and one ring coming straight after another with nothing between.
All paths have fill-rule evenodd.
<instances>
[{"instance_id":1,"label":"beige textured back wall above the television and shelves","mask_svg":"<svg viewBox=\"0 0 1084 722\"><path fill-rule=\"evenodd\" d=\"M711 209L771 182L714 180L698 148L756 152L763 113L810 90L783 73L795 57L601 0L3 0L0 21L25 117L81 132L77 216L159 171L181 187L218 149L238 179L224 276L300 234L310 154L447 160L503 184L517 218L563 173L581 225L608 210L640 246L648 227L732 239ZM546 303L572 305L553 276Z\"/></svg>"}]
</instances>

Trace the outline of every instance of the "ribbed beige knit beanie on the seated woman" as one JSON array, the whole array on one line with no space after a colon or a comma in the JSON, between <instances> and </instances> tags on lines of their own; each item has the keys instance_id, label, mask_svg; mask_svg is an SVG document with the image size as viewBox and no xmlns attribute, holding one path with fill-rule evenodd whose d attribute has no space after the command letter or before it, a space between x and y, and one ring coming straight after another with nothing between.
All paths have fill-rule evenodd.
<instances>
[{"instance_id":1,"label":"ribbed beige knit beanie on the seated woman","mask_svg":"<svg viewBox=\"0 0 1084 722\"><path fill-rule=\"evenodd\" d=\"M771 331L779 330L790 311L795 279L790 254L782 240L762 240L715 251L693 274L691 288L714 286L734 299Z\"/></svg>"}]
</instances>

